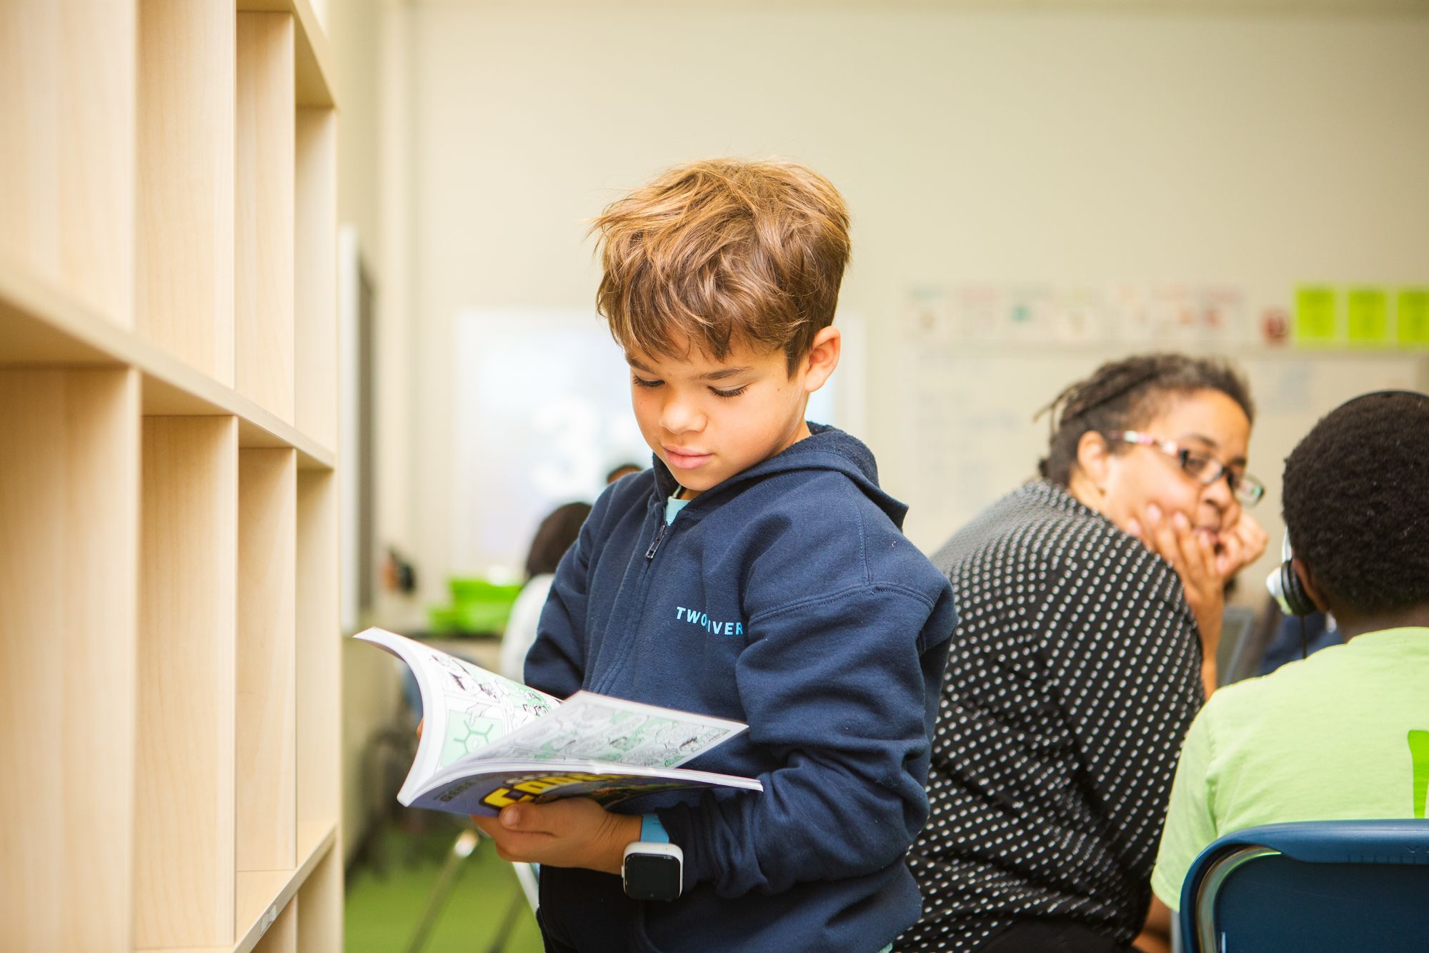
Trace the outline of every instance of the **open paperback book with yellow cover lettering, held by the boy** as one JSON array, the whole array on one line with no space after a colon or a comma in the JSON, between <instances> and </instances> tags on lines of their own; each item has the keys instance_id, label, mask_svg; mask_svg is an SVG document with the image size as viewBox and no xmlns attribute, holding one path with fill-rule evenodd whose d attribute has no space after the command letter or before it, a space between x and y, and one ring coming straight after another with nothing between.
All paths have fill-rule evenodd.
<instances>
[{"instance_id":1,"label":"open paperback book with yellow cover lettering, held by the boy","mask_svg":"<svg viewBox=\"0 0 1429 953\"><path fill-rule=\"evenodd\" d=\"M739 721L577 691L566 701L382 628L357 632L412 668L424 725L397 800L456 814L517 801L589 797L614 804L677 787L740 787L747 777L679 766L747 728Z\"/></svg>"}]
</instances>

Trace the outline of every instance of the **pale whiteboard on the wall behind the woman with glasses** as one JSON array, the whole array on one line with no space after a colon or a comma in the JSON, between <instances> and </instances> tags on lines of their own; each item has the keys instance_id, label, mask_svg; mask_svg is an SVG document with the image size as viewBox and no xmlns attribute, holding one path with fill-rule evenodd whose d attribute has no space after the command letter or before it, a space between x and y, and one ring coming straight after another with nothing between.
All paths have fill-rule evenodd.
<instances>
[{"instance_id":1,"label":"pale whiteboard on the wall behind the woman with glasses","mask_svg":"<svg viewBox=\"0 0 1429 953\"><path fill-rule=\"evenodd\" d=\"M1280 532L1283 459L1315 421L1356 394L1422 389L1429 376L1422 352L1117 336L969 339L957 328L940 329L926 312L923 319L916 312L906 316L900 382L909 415L902 442L915 544L932 552L980 509L1033 478L1049 436L1047 416L1033 416L1105 361L1185 351L1230 356L1240 366L1256 404L1250 471L1268 487L1256 518L1272 534Z\"/></svg>"}]
</instances>

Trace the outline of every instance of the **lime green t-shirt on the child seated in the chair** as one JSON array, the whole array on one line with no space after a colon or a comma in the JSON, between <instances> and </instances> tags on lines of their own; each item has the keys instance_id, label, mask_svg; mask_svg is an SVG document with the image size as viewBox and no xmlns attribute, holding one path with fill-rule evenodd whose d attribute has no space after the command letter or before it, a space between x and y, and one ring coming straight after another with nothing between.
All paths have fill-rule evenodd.
<instances>
[{"instance_id":1,"label":"lime green t-shirt on the child seated in the chair","mask_svg":"<svg viewBox=\"0 0 1429 953\"><path fill-rule=\"evenodd\" d=\"M1366 632L1213 694L1186 734L1152 890L1256 824L1425 816L1429 628Z\"/></svg>"}]
</instances>

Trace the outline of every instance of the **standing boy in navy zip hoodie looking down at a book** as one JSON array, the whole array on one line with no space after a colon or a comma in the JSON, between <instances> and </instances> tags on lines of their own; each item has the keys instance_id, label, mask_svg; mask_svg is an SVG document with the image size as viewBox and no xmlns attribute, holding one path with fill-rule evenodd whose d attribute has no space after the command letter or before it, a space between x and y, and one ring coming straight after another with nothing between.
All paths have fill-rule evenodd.
<instances>
[{"instance_id":1,"label":"standing boy in navy zip hoodie looking down at a book","mask_svg":"<svg viewBox=\"0 0 1429 953\"><path fill-rule=\"evenodd\" d=\"M839 362L847 210L796 165L672 169L597 219L597 302L653 468L610 487L556 572L526 680L749 723L689 767L763 793L672 791L483 821L542 864L547 950L855 950L917 919L903 853L955 617L873 456L805 422ZM624 849L683 853L633 900Z\"/></svg>"}]
</instances>

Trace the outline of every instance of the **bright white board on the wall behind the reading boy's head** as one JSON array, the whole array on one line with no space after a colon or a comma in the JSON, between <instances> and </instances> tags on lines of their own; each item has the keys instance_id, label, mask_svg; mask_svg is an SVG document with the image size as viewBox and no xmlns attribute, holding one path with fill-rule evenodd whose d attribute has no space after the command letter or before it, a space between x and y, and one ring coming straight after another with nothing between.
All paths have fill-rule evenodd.
<instances>
[{"instance_id":1,"label":"bright white board on the wall behind the reading boy's head","mask_svg":"<svg viewBox=\"0 0 1429 953\"><path fill-rule=\"evenodd\" d=\"M839 325L859 333L856 318L840 315ZM843 426L840 386L856 395L860 379L860 366L840 368L810 398L807 418ZM590 311L460 312L452 399L456 575L516 577L546 514L594 502L617 464L650 465L624 352Z\"/></svg>"}]
</instances>

